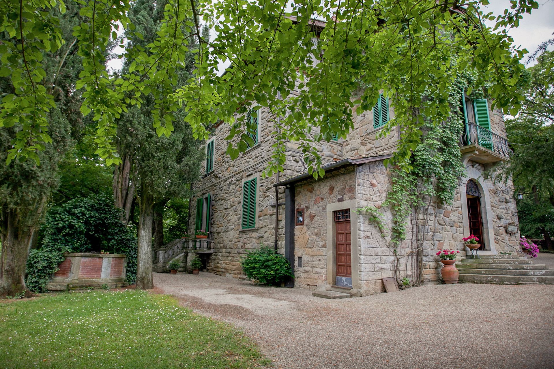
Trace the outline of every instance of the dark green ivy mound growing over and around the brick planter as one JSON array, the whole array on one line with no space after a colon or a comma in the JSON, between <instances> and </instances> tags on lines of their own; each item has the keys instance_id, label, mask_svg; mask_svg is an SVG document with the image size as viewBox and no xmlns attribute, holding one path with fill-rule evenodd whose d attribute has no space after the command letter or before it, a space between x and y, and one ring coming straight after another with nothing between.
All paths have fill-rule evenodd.
<instances>
[{"instance_id":1,"label":"dark green ivy mound growing over and around the brick planter","mask_svg":"<svg viewBox=\"0 0 554 369\"><path fill-rule=\"evenodd\" d=\"M64 252L102 250L127 255L127 282L133 283L136 237L121 224L119 211L105 196L76 198L53 207L43 226L44 239L40 247L29 253L27 287L42 292L63 261Z\"/></svg>"}]
</instances>

